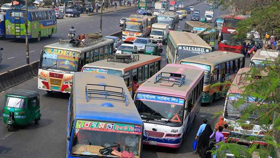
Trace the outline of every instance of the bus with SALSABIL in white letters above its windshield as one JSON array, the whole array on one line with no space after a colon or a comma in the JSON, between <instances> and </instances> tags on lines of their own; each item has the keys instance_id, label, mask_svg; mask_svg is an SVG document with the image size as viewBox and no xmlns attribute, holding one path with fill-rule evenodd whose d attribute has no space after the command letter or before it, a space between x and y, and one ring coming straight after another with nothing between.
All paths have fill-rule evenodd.
<instances>
[{"instance_id":1,"label":"bus with SALSABIL in white letters above its windshield","mask_svg":"<svg viewBox=\"0 0 280 158\"><path fill-rule=\"evenodd\" d=\"M166 58L167 62L178 63L180 60L199 54L206 54L212 48L201 39L197 34L181 31L170 31Z\"/></svg>"}]
</instances>

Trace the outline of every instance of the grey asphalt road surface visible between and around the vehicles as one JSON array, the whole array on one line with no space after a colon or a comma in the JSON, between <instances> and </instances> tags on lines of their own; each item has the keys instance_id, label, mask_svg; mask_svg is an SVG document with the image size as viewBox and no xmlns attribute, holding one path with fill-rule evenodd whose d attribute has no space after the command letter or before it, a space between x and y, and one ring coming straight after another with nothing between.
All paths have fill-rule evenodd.
<instances>
[{"instance_id":1,"label":"grey asphalt road surface visible between and around the vehicles","mask_svg":"<svg viewBox=\"0 0 280 158\"><path fill-rule=\"evenodd\" d=\"M195 6L203 15L208 6L204 2ZM134 12L133 9L120 11L118 13L107 13L104 15L103 31L105 35L120 30L118 25L121 17L128 17ZM222 14L219 10L215 10L214 16ZM39 59L41 48L49 43L56 42L59 38L66 36L70 26L77 29L77 33L95 32L99 30L99 16L81 17L81 18L65 18L58 20L58 33L53 38L42 39L41 42L30 43L30 60ZM190 14L187 20L190 20ZM214 21L214 20L213 20ZM184 27L184 20L180 21L180 27ZM1 46L4 46L4 61L0 65L1 71L17 67L25 64L25 48L24 43L14 40L2 40ZM10 60L8 58L14 57ZM162 54L163 64L166 64L165 54ZM28 89L40 93L40 105L42 117L39 125L34 122L27 126L19 127L14 132L8 132L7 127L0 118L0 158L63 158L66 155L66 126L67 126L67 103L69 94L53 93L49 95L46 91L37 89L37 78L30 79L23 84L19 84L11 89L0 93L1 109L6 93L14 89ZM204 105L200 109L198 117L196 117L193 127L187 138L184 140L179 149L168 149L154 146L144 146L142 151L143 158L198 158L193 155L192 142L202 120L207 118L210 124L214 124L217 120L214 113L222 111L223 99L219 99L211 105ZM2 113L0 112L2 115Z\"/></svg>"}]
</instances>

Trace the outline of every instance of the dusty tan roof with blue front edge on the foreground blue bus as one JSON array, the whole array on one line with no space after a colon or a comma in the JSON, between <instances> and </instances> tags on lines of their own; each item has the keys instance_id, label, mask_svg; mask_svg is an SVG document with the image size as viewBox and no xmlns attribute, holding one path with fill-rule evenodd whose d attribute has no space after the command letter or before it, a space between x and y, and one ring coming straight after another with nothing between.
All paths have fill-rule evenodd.
<instances>
[{"instance_id":1,"label":"dusty tan roof with blue front edge on the foreground blue bus","mask_svg":"<svg viewBox=\"0 0 280 158\"><path fill-rule=\"evenodd\" d=\"M98 98L91 98L86 101L86 84L106 84L108 86L124 87L124 93L127 95L127 105L122 101ZM92 89L93 87L90 88ZM76 120L143 124L122 77L100 73L76 72L73 77L73 103ZM102 106L104 103L112 104L113 107Z\"/></svg>"}]
</instances>

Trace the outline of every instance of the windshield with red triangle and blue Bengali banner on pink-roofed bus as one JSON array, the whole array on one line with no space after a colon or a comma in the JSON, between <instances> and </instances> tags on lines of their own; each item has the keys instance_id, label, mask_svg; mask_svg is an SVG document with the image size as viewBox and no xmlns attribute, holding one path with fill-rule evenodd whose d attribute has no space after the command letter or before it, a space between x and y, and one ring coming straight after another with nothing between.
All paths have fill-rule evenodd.
<instances>
[{"instance_id":1,"label":"windshield with red triangle and blue Bengali banner on pink-roofed bus","mask_svg":"<svg viewBox=\"0 0 280 158\"><path fill-rule=\"evenodd\" d=\"M142 119L156 121L178 127L182 125L184 115L184 99L137 93L135 105Z\"/></svg>"}]
</instances>

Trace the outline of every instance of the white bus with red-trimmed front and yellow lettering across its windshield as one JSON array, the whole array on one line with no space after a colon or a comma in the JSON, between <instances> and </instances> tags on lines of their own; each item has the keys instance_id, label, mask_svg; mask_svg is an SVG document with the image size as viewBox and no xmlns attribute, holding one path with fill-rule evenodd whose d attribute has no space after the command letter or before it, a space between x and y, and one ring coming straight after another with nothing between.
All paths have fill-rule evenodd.
<instances>
[{"instance_id":1,"label":"white bus with red-trimmed front and yellow lettering across its windshield","mask_svg":"<svg viewBox=\"0 0 280 158\"><path fill-rule=\"evenodd\" d=\"M40 56L38 89L70 93L73 75L82 66L113 54L114 41L107 38L86 39L84 45L72 45L69 39L44 46Z\"/></svg>"}]
</instances>

